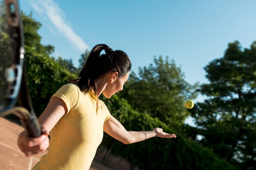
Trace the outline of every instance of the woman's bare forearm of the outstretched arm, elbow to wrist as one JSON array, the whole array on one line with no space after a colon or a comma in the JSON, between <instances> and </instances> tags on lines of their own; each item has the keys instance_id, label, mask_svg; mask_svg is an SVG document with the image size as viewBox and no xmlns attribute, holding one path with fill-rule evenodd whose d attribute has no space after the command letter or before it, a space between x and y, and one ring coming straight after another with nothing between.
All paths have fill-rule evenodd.
<instances>
[{"instance_id":1,"label":"woman's bare forearm of the outstretched arm, elbow to wrist","mask_svg":"<svg viewBox=\"0 0 256 170\"><path fill-rule=\"evenodd\" d=\"M128 141L127 144L132 144L135 142L140 142L151 137L155 137L157 133L155 131L128 131Z\"/></svg>"}]
</instances>

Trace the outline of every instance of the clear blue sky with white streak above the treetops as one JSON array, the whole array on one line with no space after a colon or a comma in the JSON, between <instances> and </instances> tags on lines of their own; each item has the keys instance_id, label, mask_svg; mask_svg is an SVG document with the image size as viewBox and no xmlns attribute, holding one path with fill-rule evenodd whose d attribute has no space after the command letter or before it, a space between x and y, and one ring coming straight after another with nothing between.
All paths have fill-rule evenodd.
<instances>
[{"instance_id":1,"label":"clear blue sky with white streak above the treetops","mask_svg":"<svg viewBox=\"0 0 256 170\"><path fill-rule=\"evenodd\" d=\"M78 65L86 49L108 44L129 55L135 72L154 56L168 56L190 84L207 83L203 67L229 42L249 48L256 40L255 7L255 0L20 1L42 24L42 43L55 47L54 57Z\"/></svg>"}]
</instances>

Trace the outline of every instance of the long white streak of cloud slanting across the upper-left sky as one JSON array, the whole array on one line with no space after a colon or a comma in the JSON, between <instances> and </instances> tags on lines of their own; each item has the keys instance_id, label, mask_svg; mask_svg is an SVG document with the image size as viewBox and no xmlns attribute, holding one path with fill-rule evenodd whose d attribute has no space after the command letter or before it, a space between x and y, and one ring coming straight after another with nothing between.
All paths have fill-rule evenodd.
<instances>
[{"instance_id":1,"label":"long white streak of cloud slanting across the upper-left sky","mask_svg":"<svg viewBox=\"0 0 256 170\"><path fill-rule=\"evenodd\" d=\"M89 49L83 39L74 33L71 24L65 19L65 13L58 7L56 2L53 0L29 0L29 2L43 18L46 15L56 29L63 33L78 50L84 52Z\"/></svg>"}]
</instances>

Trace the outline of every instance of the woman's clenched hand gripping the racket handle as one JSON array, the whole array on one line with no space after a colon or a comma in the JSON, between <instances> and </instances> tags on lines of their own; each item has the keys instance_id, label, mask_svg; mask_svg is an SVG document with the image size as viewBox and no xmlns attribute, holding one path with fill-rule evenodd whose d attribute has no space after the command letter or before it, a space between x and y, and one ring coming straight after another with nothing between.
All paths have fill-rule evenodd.
<instances>
[{"instance_id":1,"label":"woman's clenched hand gripping the racket handle","mask_svg":"<svg viewBox=\"0 0 256 170\"><path fill-rule=\"evenodd\" d=\"M48 135L48 132L43 131L39 137L30 138L27 136L27 131L23 131L18 136L18 147L27 157L41 153L49 146Z\"/></svg>"}]
</instances>

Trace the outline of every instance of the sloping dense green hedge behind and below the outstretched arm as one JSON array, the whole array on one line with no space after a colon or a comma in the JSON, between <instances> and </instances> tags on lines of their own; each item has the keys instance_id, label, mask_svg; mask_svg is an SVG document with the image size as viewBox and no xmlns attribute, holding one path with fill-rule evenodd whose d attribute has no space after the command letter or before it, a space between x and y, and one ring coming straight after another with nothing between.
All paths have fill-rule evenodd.
<instances>
[{"instance_id":1,"label":"sloping dense green hedge behind and below the outstretched arm","mask_svg":"<svg viewBox=\"0 0 256 170\"><path fill-rule=\"evenodd\" d=\"M161 127L168 133L174 132L158 118L133 110L123 98L112 96L103 100L112 116L117 118L128 131L148 131ZM187 141L182 134L176 132L175 134L177 135L175 139L154 137L128 145L104 134L101 145L108 148L113 145L112 154L121 155L144 170L237 170L218 158L211 150Z\"/></svg>"}]
</instances>

